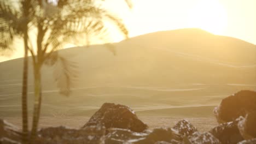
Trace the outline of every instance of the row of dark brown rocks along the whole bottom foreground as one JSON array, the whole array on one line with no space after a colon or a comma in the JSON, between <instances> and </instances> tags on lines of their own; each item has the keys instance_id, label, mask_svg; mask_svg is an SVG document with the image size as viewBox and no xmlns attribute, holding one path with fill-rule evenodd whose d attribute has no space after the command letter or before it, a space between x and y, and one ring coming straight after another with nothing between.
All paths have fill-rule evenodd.
<instances>
[{"instance_id":1,"label":"row of dark brown rocks along the whole bottom foreground","mask_svg":"<svg viewBox=\"0 0 256 144\"><path fill-rule=\"evenodd\" d=\"M242 94L247 93L248 97L242 99ZM249 93L249 94L248 94ZM38 144L71 144L71 143L154 143L154 144L244 144L255 143L256 137L256 111L253 106L245 106L245 101L253 101L254 94L251 91L241 91L237 94L223 99L222 104L214 112L222 122L234 119L214 127L206 133L199 133L196 127L187 120L177 122L172 128L156 128L147 130L147 125L138 119L135 112L124 105L105 103L80 129L67 127L49 127L38 131L38 137L34 143ZM244 100L244 101L242 101ZM238 110L233 112L227 104L238 103ZM256 103L255 103L256 104ZM245 106L243 108L243 106ZM237 110L236 108L234 111ZM231 114L227 117L224 113ZM245 117L244 112L248 112ZM244 140L246 139L246 140ZM20 129L0 119L0 143L21 143Z\"/></svg>"}]
</instances>

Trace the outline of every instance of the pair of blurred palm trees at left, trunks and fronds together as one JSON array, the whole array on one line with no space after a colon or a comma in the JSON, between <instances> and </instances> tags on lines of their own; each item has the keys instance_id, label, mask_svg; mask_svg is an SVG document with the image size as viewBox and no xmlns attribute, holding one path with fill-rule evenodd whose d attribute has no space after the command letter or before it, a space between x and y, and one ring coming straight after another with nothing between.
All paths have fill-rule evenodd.
<instances>
[{"instance_id":1,"label":"pair of blurred palm trees at left, trunks and fronds together","mask_svg":"<svg viewBox=\"0 0 256 144\"><path fill-rule=\"evenodd\" d=\"M125 1L131 8L131 2ZM55 80L60 93L69 95L72 79L75 77L74 63L60 56L56 50L65 44L75 41L75 37L90 33L107 40L109 37L106 20L117 26L121 33L128 37L124 23L117 16L104 9L104 1L90 0L59 0L50 3L47 0L20 0L18 5L12 1L0 2L1 49L8 49L14 43L15 37L24 39L25 59L22 82L22 131L23 143L28 143L27 128L27 54L31 53L34 74L34 108L30 142L36 138L42 87L40 69L42 65L58 65L55 70ZM36 32L36 35L34 32ZM33 38L36 37L36 46ZM87 39L87 44L89 41Z\"/></svg>"}]
</instances>

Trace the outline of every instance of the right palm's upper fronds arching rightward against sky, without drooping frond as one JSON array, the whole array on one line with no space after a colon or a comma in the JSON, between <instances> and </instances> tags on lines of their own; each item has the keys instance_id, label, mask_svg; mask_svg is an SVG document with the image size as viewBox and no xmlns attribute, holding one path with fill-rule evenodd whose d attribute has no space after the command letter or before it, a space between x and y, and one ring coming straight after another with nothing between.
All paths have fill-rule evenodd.
<instances>
[{"instance_id":1,"label":"right palm's upper fronds arching rightward against sky, without drooping frond","mask_svg":"<svg viewBox=\"0 0 256 144\"><path fill-rule=\"evenodd\" d=\"M62 3L61 9L65 13L50 18L44 17L46 19L44 25L51 31L45 40L45 48L51 47L50 51L55 51L71 41L77 43L81 36L84 37L86 45L90 44L91 37L109 43L110 35L106 20L113 22L125 38L128 38L129 33L123 21L100 6L95 6L92 1L63 0L58 2ZM47 49L44 49L44 52L49 52Z\"/></svg>"}]
</instances>

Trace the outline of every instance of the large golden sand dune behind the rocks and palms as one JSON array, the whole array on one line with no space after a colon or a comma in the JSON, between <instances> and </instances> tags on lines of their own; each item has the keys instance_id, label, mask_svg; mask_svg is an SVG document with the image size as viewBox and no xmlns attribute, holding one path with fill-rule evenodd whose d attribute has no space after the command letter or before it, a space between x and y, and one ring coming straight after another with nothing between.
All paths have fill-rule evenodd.
<instances>
[{"instance_id":1,"label":"large golden sand dune behind the rocks and palms","mask_svg":"<svg viewBox=\"0 0 256 144\"><path fill-rule=\"evenodd\" d=\"M91 116L105 102L139 116L211 117L214 105L241 89L256 90L256 46L199 29L156 32L113 44L60 50L78 79L62 97L54 67L42 68L42 116ZM31 66L31 59L30 59ZM0 117L20 116L22 58L0 63ZM33 75L28 104L32 111Z\"/></svg>"}]
</instances>

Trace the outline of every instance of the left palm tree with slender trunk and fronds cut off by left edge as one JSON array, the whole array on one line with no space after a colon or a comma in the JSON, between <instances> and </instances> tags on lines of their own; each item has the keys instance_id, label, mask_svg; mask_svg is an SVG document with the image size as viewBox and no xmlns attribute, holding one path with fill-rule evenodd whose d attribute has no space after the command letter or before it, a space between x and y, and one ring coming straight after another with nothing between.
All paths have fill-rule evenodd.
<instances>
[{"instance_id":1,"label":"left palm tree with slender trunk and fronds cut off by left edge","mask_svg":"<svg viewBox=\"0 0 256 144\"><path fill-rule=\"evenodd\" d=\"M24 65L22 74L22 143L28 141L27 118L27 69L28 69L28 23L31 14L30 0L21 1L21 7L14 7L11 1L0 2L0 49L11 49L15 37L24 41Z\"/></svg>"}]
</instances>

